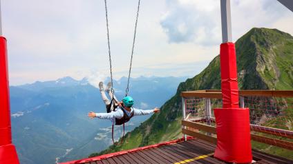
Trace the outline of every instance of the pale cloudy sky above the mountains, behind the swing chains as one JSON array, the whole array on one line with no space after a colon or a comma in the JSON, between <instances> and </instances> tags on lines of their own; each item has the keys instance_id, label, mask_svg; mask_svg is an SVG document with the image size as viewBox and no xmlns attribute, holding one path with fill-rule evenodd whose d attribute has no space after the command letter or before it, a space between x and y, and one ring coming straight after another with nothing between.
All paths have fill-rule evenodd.
<instances>
[{"instance_id":1,"label":"pale cloudy sky above the mountains, behind the swing chains","mask_svg":"<svg viewBox=\"0 0 293 164\"><path fill-rule=\"evenodd\" d=\"M114 79L128 76L138 0L108 0ZM102 0L2 0L10 85L110 76ZM232 38L251 28L293 35L276 0L231 0ZM219 0L141 0L131 75L195 76L219 54Z\"/></svg>"}]
</instances>

